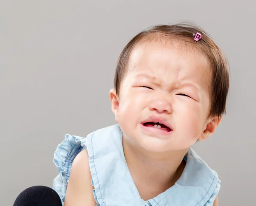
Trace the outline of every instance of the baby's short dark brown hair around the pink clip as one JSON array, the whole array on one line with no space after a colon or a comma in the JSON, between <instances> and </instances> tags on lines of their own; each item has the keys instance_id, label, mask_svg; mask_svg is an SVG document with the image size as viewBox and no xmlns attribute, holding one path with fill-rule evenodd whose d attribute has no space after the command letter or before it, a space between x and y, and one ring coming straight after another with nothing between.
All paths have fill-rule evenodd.
<instances>
[{"instance_id":1,"label":"baby's short dark brown hair around the pink clip","mask_svg":"<svg viewBox=\"0 0 256 206\"><path fill-rule=\"evenodd\" d=\"M201 39L194 40L197 33ZM119 95L121 82L127 72L129 57L139 43L159 42L160 44L177 43L207 57L211 66L212 82L209 82L211 108L209 117L221 117L226 113L226 100L229 90L229 65L226 56L213 42L212 38L195 23L177 23L156 25L148 28L134 38L122 50L116 65L114 87Z\"/></svg>"}]
</instances>

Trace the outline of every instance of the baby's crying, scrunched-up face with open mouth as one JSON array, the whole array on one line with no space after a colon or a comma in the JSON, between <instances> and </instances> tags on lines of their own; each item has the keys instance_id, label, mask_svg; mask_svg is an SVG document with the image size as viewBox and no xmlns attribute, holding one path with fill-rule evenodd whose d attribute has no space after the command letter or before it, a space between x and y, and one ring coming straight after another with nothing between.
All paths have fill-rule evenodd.
<instances>
[{"instance_id":1,"label":"baby's crying, scrunched-up face with open mouth","mask_svg":"<svg viewBox=\"0 0 256 206\"><path fill-rule=\"evenodd\" d=\"M124 137L155 152L191 147L208 123L207 59L185 46L151 43L134 49L128 70L116 112Z\"/></svg>"}]
</instances>

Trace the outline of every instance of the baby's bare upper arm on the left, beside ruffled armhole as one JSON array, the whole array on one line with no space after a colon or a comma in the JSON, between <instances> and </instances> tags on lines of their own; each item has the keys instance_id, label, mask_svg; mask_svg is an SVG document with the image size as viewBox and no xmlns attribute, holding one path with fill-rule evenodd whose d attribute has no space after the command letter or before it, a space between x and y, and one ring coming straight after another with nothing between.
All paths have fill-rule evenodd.
<instances>
[{"instance_id":1,"label":"baby's bare upper arm on the left, beside ruffled armhole","mask_svg":"<svg viewBox=\"0 0 256 206\"><path fill-rule=\"evenodd\" d=\"M88 159L86 150L81 151L74 159L64 206L96 206Z\"/></svg>"}]
</instances>

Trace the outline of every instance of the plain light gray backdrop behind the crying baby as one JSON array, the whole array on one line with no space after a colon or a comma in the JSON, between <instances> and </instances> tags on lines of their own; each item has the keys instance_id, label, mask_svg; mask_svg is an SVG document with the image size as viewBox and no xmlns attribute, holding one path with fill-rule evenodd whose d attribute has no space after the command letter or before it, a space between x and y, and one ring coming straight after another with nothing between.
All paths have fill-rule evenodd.
<instances>
[{"instance_id":1,"label":"plain light gray backdrop behind the crying baby","mask_svg":"<svg viewBox=\"0 0 256 206\"><path fill-rule=\"evenodd\" d=\"M231 68L227 115L196 152L222 181L220 206L255 204L256 28L253 1L6 0L0 3L0 205L52 186L66 133L115 124L108 92L117 58L138 32L191 20Z\"/></svg>"}]
</instances>

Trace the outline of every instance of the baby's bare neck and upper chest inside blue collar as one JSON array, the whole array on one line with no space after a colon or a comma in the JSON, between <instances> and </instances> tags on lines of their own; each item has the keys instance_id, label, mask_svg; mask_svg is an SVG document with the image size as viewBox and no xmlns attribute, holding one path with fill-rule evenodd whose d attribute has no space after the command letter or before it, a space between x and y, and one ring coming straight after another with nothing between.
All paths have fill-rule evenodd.
<instances>
[{"instance_id":1,"label":"baby's bare neck and upper chest inside blue collar","mask_svg":"<svg viewBox=\"0 0 256 206\"><path fill-rule=\"evenodd\" d=\"M155 189L151 191L152 197L149 195L145 199L154 198L173 186L180 178L186 165L183 158L188 150L150 152L133 144L126 137L123 137L122 142L125 159L139 193L142 193L140 188L145 190L145 186Z\"/></svg>"}]
</instances>

